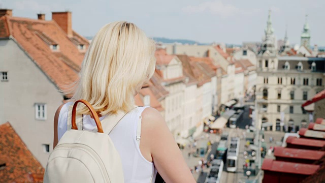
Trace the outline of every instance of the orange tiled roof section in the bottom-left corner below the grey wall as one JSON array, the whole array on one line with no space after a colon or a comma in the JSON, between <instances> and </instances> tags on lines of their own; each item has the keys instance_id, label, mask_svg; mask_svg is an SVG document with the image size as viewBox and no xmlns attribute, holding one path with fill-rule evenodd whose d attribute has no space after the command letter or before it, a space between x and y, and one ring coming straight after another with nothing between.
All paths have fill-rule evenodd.
<instances>
[{"instance_id":1,"label":"orange tiled roof section in the bottom-left corner below the grey wall","mask_svg":"<svg viewBox=\"0 0 325 183\"><path fill-rule=\"evenodd\" d=\"M0 125L1 182L43 182L44 168L9 122Z\"/></svg>"}]
</instances>

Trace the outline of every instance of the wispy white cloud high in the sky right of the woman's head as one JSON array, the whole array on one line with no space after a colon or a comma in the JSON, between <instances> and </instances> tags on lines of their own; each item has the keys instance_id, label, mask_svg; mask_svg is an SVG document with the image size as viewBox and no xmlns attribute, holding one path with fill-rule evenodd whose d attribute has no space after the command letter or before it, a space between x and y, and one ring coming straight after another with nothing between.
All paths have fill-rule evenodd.
<instances>
[{"instance_id":1,"label":"wispy white cloud high in the sky right of the woman's head","mask_svg":"<svg viewBox=\"0 0 325 183\"><path fill-rule=\"evenodd\" d=\"M187 6L182 8L182 12L194 14L208 12L221 17L229 17L238 14L240 11L231 4L224 4L221 1L204 2L198 6Z\"/></svg>"}]
</instances>

